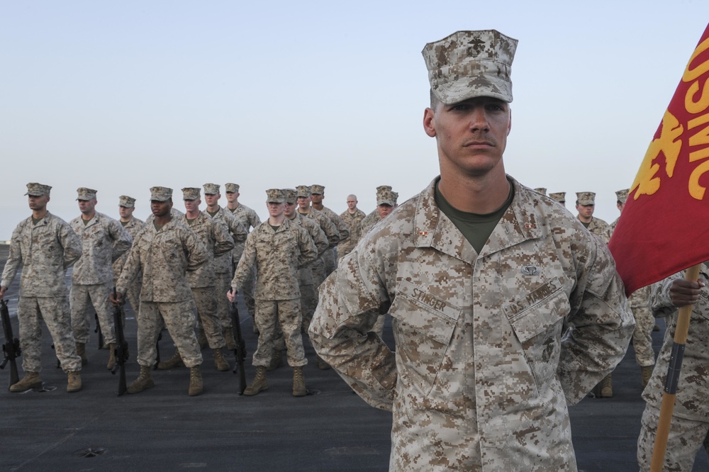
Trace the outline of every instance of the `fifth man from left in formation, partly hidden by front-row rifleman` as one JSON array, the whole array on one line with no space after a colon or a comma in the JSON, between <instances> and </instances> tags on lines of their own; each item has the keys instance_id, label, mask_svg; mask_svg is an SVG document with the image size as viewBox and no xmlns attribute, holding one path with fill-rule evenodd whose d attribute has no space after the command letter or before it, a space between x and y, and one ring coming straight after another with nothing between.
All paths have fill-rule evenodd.
<instances>
[{"instance_id":1,"label":"fifth man from left in formation, partly hidden by front-row rifleman","mask_svg":"<svg viewBox=\"0 0 709 472\"><path fill-rule=\"evenodd\" d=\"M197 307L197 315L201 321L201 332L204 333L209 347L214 349L214 365L220 372L230 369L224 357L226 342L223 327L217 315L217 291L214 278L214 258L231 252L234 240L226 227L199 210L202 199L199 198L199 188L186 187L182 189L182 199L186 213L179 222L195 232L199 241L206 247L208 259L194 271L186 273L187 283L192 289L192 297ZM223 296L222 293L219 296ZM172 369L182 366L182 358L175 349L167 361L157 364L158 369Z\"/></svg>"}]
</instances>

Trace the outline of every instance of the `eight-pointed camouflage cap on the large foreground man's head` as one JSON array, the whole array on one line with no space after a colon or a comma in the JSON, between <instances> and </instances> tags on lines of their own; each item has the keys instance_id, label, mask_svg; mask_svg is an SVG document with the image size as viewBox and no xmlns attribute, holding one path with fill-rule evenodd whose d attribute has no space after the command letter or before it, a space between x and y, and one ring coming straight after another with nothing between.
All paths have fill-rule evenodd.
<instances>
[{"instance_id":1,"label":"eight-pointed camouflage cap on the large foreground man's head","mask_svg":"<svg viewBox=\"0 0 709 472\"><path fill-rule=\"evenodd\" d=\"M428 81L444 105L476 96L512 101L518 41L497 30L457 31L423 47Z\"/></svg>"}]
</instances>

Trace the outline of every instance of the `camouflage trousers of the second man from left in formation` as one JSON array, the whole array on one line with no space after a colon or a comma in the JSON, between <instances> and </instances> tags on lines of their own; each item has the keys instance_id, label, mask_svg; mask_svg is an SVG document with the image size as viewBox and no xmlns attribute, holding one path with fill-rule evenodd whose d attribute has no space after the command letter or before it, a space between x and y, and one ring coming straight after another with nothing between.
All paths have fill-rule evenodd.
<instances>
[{"instance_id":1,"label":"camouflage trousers of the second man from left in formation","mask_svg":"<svg viewBox=\"0 0 709 472\"><path fill-rule=\"evenodd\" d=\"M89 329L91 320L89 319L89 305L94 305L96 315L99 315L99 326L101 334L104 335L104 344L116 342L116 329L113 326L113 308L108 297L113 292L111 283L99 283L96 285L82 285L72 283L69 299L72 305L72 327L74 327L74 339L77 342L86 344L89 342Z\"/></svg>"}]
</instances>

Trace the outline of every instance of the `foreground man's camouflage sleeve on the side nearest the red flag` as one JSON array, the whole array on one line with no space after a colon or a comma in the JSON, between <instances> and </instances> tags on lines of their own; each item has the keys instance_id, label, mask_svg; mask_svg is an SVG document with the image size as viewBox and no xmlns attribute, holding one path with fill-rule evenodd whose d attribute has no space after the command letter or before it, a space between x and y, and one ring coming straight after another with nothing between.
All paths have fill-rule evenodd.
<instances>
[{"instance_id":1,"label":"foreground man's camouflage sleeve on the side nearest the red flag","mask_svg":"<svg viewBox=\"0 0 709 472\"><path fill-rule=\"evenodd\" d=\"M578 403L623 359L635 320L608 248L589 234L588 253L569 297L570 323L557 373L569 405ZM585 262L585 263L584 263Z\"/></svg>"}]
</instances>

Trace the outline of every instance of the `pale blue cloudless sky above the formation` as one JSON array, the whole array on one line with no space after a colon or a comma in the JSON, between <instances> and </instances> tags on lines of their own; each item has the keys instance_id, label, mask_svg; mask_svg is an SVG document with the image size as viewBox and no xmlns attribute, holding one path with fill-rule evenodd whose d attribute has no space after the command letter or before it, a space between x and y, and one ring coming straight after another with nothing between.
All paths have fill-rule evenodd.
<instances>
[{"instance_id":1,"label":"pale blue cloudless sky above the formation","mask_svg":"<svg viewBox=\"0 0 709 472\"><path fill-rule=\"evenodd\" d=\"M519 40L508 174L574 213L595 191L610 223L708 21L706 0L0 0L0 240L30 181L67 221L80 186L113 218L207 182L262 218L266 189L301 184L337 213L383 184L402 203L438 174L420 51L490 28Z\"/></svg>"}]
</instances>

